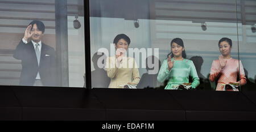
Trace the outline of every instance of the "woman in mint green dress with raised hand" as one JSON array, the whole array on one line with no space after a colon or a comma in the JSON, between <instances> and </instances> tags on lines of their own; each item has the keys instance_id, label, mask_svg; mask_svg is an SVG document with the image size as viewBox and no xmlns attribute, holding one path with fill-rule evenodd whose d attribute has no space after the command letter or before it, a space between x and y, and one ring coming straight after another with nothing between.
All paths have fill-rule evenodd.
<instances>
[{"instance_id":1,"label":"woman in mint green dress with raised hand","mask_svg":"<svg viewBox=\"0 0 256 132\"><path fill-rule=\"evenodd\" d=\"M189 76L192 77L191 88L199 86L200 82L196 67L186 57L183 41L180 38L173 39L171 41L171 53L164 59L158 73L159 82L164 82L164 80L168 79L165 90L175 90L179 84L189 83Z\"/></svg>"}]
</instances>

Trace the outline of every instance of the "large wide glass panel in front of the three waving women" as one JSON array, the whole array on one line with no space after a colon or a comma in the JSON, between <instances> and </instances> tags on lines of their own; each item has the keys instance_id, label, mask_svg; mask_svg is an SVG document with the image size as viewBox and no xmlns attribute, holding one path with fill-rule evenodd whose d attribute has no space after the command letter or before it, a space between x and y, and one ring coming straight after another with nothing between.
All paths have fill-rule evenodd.
<instances>
[{"instance_id":1,"label":"large wide glass panel in front of the three waving women","mask_svg":"<svg viewBox=\"0 0 256 132\"><path fill-rule=\"evenodd\" d=\"M238 8L239 11L241 12ZM239 15L238 19L241 19ZM238 30L238 32L241 31ZM135 78L138 75L137 69L119 70L115 67L117 57L115 45L118 46L118 41L117 44L113 43L114 38L121 33L130 39L129 49L126 50L125 55L135 59L138 65L139 83ZM179 88L175 87L179 84L192 83L189 88L193 90L216 90L216 87L217 90L223 90L223 84L229 83L229 79L235 76L228 76L226 79L222 76L221 81L217 78L220 76L209 79L212 62L214 60L218 62L218 57L221 55L218 41L222 37L228 37L233 41L231 56L238 59L237 40L241 36L237 37L236 1L234 0L90 1L92 87L122 88L123 85L132 82L137 84L135 86L137 88L172 90ZM127 42L127 39L121 38ZM181 51L173 50L175 53L172 59L176 60L173 69L169 71L167 54L171 52L171 41L175 38L183 40L184 46L178 45L184 48L187 57L183 56L182 59ZM120 47L127 48L127 46ZM97 52L100 52L99 55ZM105 56L101 54L102 52ZM180 54L182 60L179 60ZM161 65L147 63L148 67L154 66L156 72L146 68L146 58L155 58L155 62L161 63ZM106 68L108 61L113 63L112 69ZM128 63L133 62L128 61ZM212 73L218 70L219 64L220 62L217 66L213 65L216 67L213 67L215 70ZM162 71L160 67L163 67Z\"/></svg>"}]
</instances>

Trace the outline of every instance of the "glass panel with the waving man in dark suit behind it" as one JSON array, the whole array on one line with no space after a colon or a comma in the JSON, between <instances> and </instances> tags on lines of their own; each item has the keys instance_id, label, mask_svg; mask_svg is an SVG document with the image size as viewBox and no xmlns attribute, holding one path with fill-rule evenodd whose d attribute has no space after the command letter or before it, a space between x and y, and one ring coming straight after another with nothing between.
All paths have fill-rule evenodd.
<instances>
[{"instance_id":1,"label":"glass panel with the waving man in dark suit behind it","mask_svg":"<svg viewBox=\"0 0 256 132\"><path fill-rule=\"evenodd\" d=\"M0 84L83 87L83 1L0 3Z\"/></svg>"}]
</instances>

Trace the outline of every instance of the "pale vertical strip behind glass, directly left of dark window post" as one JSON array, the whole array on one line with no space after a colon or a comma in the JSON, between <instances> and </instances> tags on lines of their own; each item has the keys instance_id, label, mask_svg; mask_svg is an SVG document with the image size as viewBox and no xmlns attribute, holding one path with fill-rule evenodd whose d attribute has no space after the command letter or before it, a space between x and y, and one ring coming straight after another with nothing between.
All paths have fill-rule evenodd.
<instances>
[{"instance_id":1,"label":"pale vertical strip behind glass, directly left of dark window post","mask_svg":"<svg viewBox=\"0 0 256 132\"><path fill-rule=\"evenodd\" d=\"M85 87L84 1L67 2L69 87Z\"/></svg>"}]
</instances>

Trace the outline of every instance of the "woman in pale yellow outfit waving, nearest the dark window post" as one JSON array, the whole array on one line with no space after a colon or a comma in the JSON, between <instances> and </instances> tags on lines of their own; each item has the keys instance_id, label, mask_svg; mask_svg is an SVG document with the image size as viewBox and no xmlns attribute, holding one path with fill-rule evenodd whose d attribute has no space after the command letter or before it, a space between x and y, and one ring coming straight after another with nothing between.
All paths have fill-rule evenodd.
<instances>
[{"instance_id":1,"label":"woman in pale yellow outfit waving, nearest the dark window post","mask_svg":"<svg viewBox=\"0 0 256 132\"><path fill-rule=\"evenodd\" d=\"M133 57L125 56L130 45L130 38L125 34L119 34L113 43L115 56L108 57L105 66L110 78L109 88L123 88L125 84L136 86L140 80L137 63Z\"/></svg>"}]
</instances>

